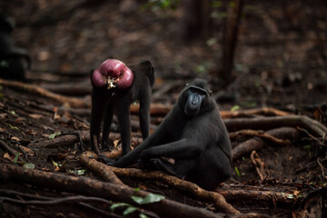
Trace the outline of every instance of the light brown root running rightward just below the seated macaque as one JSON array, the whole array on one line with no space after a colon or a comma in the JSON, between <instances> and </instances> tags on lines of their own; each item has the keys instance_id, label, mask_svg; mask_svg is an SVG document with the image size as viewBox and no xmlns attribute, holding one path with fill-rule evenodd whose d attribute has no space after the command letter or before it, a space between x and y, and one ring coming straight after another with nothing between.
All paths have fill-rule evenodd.
<instances>
[{"instance_id":1,"label":"light brown root running rightward just below the seated macaque","mask_svg":"<svg viewBox=\"0 0 327 218\"><path fill-rule=\"evenodd\" d=\"M87 163L88 161L94 162L95 154L91 152L84 152L80 160L82 163ZM103 166L101 166L103 164ZM91 170L94 172L100 172L101 169L112 170L118 177L127 177L127 178L135 178L135 179L141 179L145 181L151 181L151 182L163 182L169 186L172 186L176 189L182 190L183 192L190 193L196 199L203 200L205 202L214 203L214 205L217 207L219 211L222 211L223 213L233 213L237 214L239 213L237 210L233 208L233 206L225 201L222 195L205 191L202 188L200 188L195 183L190 183L184 180L181 180L175 176L168 175L163 172L144 172L142 170L134 169L134 168L117 168L113 166L105 165L104 163L99 164L89 164L88 166L92 166ZM102 174L104 175L104 174ZM105 180L111 180L111 178L106 178Z\"/></svg>"}]
</instances>

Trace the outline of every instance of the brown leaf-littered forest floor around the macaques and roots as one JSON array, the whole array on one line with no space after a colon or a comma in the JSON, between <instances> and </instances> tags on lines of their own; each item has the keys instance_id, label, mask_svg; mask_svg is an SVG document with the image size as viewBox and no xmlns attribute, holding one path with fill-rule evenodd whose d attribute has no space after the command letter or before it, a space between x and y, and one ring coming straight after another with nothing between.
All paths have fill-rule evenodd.
<instances>
[{"instance_id":1,"label":"brown leaf-littered forest floor around the macaques and roots","mask_svg":"<svg viewBox=\"0 0 327 218\"><path fill-rule=\"evenodd\" d=\"M135 2L138 1L0 3L0 7L15 18L16 45L30 51L33 65L26 74L28 83L84 103L74 106L69 101L37 93L33 88L23 88L22 84L1 81L0 163L33 163L35 169L47 173L103 180L90 170L84 172L86 167L80 163L80 155L83 144L89 145L84 135L90 123L89 72L111 56L126 63L150 60L157 75L153 103L162 104L164 108L174 104L184 84L194 77L215 81L222 56L220 20L213 22L211 38L184 44L175 37L181 10L139 9L145 2ZM327 124L327 4L318 2L253 1L245 6L233 72L236 76L233 91L237 98L233 103L220 103L226 114L236 108L245 114L229 120L277 117L273 113L246 111L273 107ZM221 91L211 84L214 94ZM164 115L152 114L152 131ZM137 114L132 119L137 121ZM134 123L136 145L140 142L140 132L137 122ZM270 130L269 124L266 125L263 130ZM286 138L290 144L285 144L285 138L281 145L274 140L260 139L258 135L230 135L233 149L252 138L259 138L262 143L255 149L256 153L244 152L233 158L232 179L216 190L236 210L275 217L327 217L324 135L312 134L300 124L292 127L301 137ZM117 130L115 123L113 132ZM229 129L229 132L232 134L235 130ZM52 144L61 137L70 138L66 143ZM117 139L119 134L111 135L113 142L118 142ZM14 152L10 153L8 147ZM15 152L21 154L21 160L15 160ZM4 170L4 164L0 167ZM74 195L51 187L41 189L36 182L26 181L24 175L20 175L24 183L19 183L19 176L18 182L5 180L2 183L5 175L1 170L0 198L6 196L24 202L27 199L41 201L37 196L55 199ZM167 199L223 215L214 203L174 188L172 184L134 178L122 178L122 181L131 187L161 193ZM8 190L19 193L8 193ZM26 197L22 193L33 196ZM84 194L83 190L79 194ZM102 217L105 214L85 206L81 209L79 203L24 206L2 202L0 217ZM110 211L105 203L90 204ZM133 215L138 217L139 213ZM122 211L109 216L115 215L123 216ZM152 213L147 215L155 217Z\"/></svg>"}]
</instances>

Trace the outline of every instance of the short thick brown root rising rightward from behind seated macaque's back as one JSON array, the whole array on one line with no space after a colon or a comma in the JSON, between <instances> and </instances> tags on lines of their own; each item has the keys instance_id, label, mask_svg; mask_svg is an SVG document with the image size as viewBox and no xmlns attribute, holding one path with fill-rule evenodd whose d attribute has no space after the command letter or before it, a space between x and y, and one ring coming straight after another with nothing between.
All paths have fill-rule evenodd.
<instances>
[{"instance_id":1,"label":"short thick brown root rising rightward from behind seated macaque's back","mask_svg":"<svg viewBox=\"0 0 327 218\"><path fill-rule=\"evenodd\" d=\"M266 132L266 134L272 135L274 138L281 140L298 140L301 138L301 132L292 127L282 127L272 129ZM253 150L261 150L267 143L261 138L252 138L242 144L236 145L232 150L233 160L237 159L245 154L250 154Z\"/></svg>"}]
</instances>

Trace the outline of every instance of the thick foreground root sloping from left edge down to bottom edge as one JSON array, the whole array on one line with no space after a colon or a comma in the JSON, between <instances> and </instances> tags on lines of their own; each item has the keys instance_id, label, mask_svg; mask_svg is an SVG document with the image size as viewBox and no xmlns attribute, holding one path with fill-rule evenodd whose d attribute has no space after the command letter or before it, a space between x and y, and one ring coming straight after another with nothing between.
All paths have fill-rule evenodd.
<instances>
[{"instance_id":1,"label":"thick foreground root sloping from left edge down to bottom edge","mask_svg":"<svg viewBox=\"0 0 327 218\"><path fill-rule=\"evenodd\" d=\"M87 177L68 176L60 173L48 173L39 170L30 170L23 167L0 163L0 177L2 181L29 183L35 186L55 189L68 193L83 193L84 195L101 197L118 203L130 203L144 208L164 217L221 217L202 208L192 207L183 203L177 203L163 199L157 203L137 204L132 196L145 197L149 193L134 191L129 187L123 187L114 183L95 181Z\"/></svg>"}]
</instances>

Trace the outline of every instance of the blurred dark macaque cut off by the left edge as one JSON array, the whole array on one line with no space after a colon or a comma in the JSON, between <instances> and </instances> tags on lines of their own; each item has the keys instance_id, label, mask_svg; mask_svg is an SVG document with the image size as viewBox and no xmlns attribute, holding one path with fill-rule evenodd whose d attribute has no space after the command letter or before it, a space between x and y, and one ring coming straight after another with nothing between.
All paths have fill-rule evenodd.
<instances>
[{"instance_id":1,"label":"blurred dark macaque cut off by the left edge","mask_svg":"<svg viewBox=\"0 0 327 218\"><path fill-rule=\"evenodd\" d=\"M0 12L0 77L25 81L25 70L30 68L31 59L27 51L16 47L12 39L15 23Z\"/></svg>"}]
</instances>

